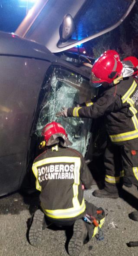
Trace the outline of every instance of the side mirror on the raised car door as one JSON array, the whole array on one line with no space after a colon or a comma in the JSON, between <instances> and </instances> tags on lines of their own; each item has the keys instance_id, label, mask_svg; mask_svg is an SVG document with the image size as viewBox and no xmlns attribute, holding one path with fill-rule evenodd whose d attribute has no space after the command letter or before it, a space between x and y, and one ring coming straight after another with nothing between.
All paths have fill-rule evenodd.
<instances>
[{"instance_id":1,"label":"side mirror on the raised car door","mask_svg":"<svg viewBox=\"0 0 138 256\"><path fill-rule=\"evenodd\" d=\"M70 14L66 14L60 26L59 34L61 42L66 42L74 33L74 20Z\"/></svg>"}]
</instances>

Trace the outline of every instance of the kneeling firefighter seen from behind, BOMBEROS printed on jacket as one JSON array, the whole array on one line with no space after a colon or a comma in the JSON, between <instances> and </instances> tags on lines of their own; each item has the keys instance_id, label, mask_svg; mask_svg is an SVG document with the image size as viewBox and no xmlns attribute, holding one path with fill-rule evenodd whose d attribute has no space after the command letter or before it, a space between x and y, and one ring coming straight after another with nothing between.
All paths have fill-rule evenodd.
<instances>
[{"instance_id":1,"label":"kneeling firefighter seen from behind, BOMBEROS printed on jacket","mask_svg":"<svg viewBox=\"0 0 138 256\"><path fill-rule=\"evenodd\" d=\"M84 241L87 243L101 231L105 213L102 208L84 200L83 186L89 189L93 177L83 156L68 147L72 143L63 126L55 121L48 123L42 135L44 141L40 148L45 147L45 151L35 158L32 165L36 189L40 191L41 209L33 216L29 242L32 246L38 246L42 229L49 223L56 226L74 225L68 252L77 256Z\"/></svg>"}]
</instances>

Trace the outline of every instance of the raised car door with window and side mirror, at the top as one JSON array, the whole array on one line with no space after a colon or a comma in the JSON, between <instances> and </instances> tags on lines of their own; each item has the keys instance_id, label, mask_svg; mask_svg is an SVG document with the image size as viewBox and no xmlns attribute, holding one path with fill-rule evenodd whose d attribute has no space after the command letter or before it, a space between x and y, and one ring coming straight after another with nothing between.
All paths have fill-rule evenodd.
<instances>
[{"instance_id":1,"label":"raised car door with window and side mirror, at the top","mask_svg":"<svg viewBox=\"0 0 138 256\"><path fill-rule=\"evenodd\" d=\"M61 52L119 26L135 0L39 0L15 34Z\"/></svg>"}]
</instances>

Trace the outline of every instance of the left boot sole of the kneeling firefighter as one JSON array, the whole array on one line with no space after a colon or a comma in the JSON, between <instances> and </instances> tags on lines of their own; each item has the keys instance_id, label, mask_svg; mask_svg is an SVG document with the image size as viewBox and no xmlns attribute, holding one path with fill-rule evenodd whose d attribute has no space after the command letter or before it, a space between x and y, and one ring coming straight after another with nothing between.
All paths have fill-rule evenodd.
<instances>
[{"instance_id":1,"label":"left boot sole of the kneeling firefighter","mask_svg":"<svg viewBox=\"0 0 138 256\"><path fill-rule=\"evenodd\" d=\"M29 242L32 246L39 246L42 240L42 226L45 215L38 209L32 219L32 225L29 229Z\"/></svg>"}]
</instances>

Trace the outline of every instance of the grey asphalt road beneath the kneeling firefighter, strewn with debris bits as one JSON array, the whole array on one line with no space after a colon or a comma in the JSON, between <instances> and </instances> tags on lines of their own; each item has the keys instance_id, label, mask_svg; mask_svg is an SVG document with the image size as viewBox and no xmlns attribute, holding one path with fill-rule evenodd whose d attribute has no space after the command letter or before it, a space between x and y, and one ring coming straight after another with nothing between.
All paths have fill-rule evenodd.
<instances>
[{"instance_id":1,"label":"grey asphalt road beneath the kneeling firefighter, strewn with debris bits","mask_svg":"<svg viewBox=\"0 0 138 256\"><path fill-rule=\"evenodd\" d=\"M138 247L126 243L138 240L138 222L128 218L128 213L138 207L138 191L135 186L124 189L123 198L98 199L92 195L97 185L85 191L85 199L106 212L103 227L104 240L94 237L84 245L80 256L138 256ZM38 195L22 196L14 193L0 198L0 256L67 256L64 229L45 229L42 244L38 248L28 243L28 223L37 209Z\"/></svg>"}]
</instances>

